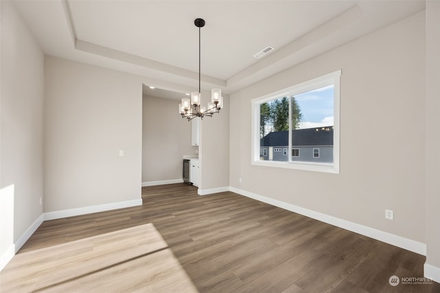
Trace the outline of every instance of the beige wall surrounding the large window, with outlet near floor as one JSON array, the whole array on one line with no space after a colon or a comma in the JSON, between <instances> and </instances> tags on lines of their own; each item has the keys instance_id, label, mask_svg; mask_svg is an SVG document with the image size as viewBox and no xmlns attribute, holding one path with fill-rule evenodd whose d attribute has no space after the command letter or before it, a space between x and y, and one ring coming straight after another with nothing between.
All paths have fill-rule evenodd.
<instances>
[{"instance_id":1,"label":"beige wall surrounding the large window, with outlet near floor","mask_svg":"<svg viewBox=\"0 0 440 293\"><path fill-rule=\"evenodd\" d=\"M232 94L230 185L425 243L424 57L420 13ZM338 69L340 174L251 165L250 100Z\"/></svg>"}]
</instances>

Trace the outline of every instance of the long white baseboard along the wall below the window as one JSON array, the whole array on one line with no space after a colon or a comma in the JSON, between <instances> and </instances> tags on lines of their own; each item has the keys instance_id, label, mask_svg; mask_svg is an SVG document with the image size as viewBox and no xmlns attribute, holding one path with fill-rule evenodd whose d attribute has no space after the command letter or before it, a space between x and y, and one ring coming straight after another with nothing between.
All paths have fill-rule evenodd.
<instances>
[{"instance_id":1,"label":"long white baseboard along the wall below the window","mask_svg":"<svg viewBox=\"0 0 440 293\"><path fill-rule=\"evenodd\" d=\"M289 204L287 202L282 202L281 200L275 200L273 198L267 198L259 194L254 194L250 191L245 191L243 189L238 189L236 187L230 187L230 191L241 194L242 196L247 196L248 198L253 198L261 202L266 202L267 204L272 204L276 207L281 207L282 209L287 209L287 211L293 211L294 213L299 213L300 215L305 215L309 218L319 220L321 222L326 222L333 226L338 226L346 230L371 237L373 239L386 242L388 244L410 250L413 253L418 253L419 255L426 255L426 244L417 242L412 239L401 237L399 235L394 235L388 232L380 231L375 228L364 226L361 224L356 224L349 222L347 220L342 220L340 218L333 217L331 215L326 215L325 213L319 213L317 211L312 211L310 209L305 209L303 207L298 207L294 204Z\"/></svg>"}]
</instances>

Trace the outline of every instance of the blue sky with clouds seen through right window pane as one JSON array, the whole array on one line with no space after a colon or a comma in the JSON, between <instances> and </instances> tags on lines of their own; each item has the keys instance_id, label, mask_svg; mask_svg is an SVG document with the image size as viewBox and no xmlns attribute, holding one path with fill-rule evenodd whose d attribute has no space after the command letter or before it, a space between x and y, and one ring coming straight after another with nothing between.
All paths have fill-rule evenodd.
<instances>
[{"instance_id":1,"label":"blue sky with clouds seen through right window pane","mask_svg":"<svg viewBox=\"0 0 440 293\"><path fill-rule=\"evenodd\" d=\"M333 125L333 85L295 95L303 113L300 128Z\"/></svg>"}]
</instances>

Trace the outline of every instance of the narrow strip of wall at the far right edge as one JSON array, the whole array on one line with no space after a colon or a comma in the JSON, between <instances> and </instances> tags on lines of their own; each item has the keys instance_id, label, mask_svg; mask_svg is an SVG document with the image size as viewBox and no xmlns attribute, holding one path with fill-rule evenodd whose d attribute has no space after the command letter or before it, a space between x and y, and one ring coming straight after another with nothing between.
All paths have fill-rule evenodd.
<instances>
[{"instance_id":1,"label":"narrow strip of wall at the far right edge","mask_svg":"<svg viewBox=\"0 0 440 293\"><path fill-rule=\"evenodd\" d=\"M440 283L440 1L426 1L426 265Z\"/></svg>"}]
</instances>

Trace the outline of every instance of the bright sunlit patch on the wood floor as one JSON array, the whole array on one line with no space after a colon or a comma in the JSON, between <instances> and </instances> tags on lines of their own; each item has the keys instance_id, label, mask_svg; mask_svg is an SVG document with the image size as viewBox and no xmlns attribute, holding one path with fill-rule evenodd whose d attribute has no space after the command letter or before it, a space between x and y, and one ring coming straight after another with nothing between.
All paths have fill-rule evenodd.
<instances>
[{"instance_id":1,"label":"bright sunlit patch on the wood floor","mask_svg":"<svg viewBox=\"0 0 440 293\"><path fill-rule=\"evenodd\" d=\"M197 292L151 223L19 253L0 274L3 290Z\"/></svg>"}]
</instances>

